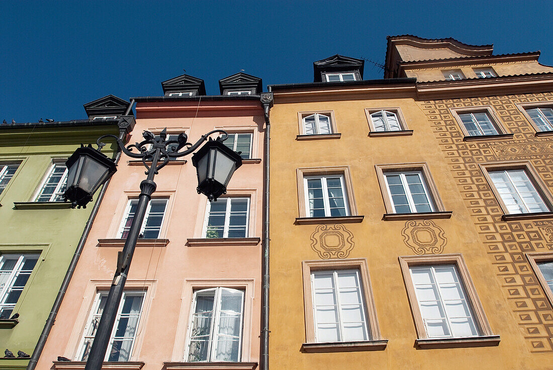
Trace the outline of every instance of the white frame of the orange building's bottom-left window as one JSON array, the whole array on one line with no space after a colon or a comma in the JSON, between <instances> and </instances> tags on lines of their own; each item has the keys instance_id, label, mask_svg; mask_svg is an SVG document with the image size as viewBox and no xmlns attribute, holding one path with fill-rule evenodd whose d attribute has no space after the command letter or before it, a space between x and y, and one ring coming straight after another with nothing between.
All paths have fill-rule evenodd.
<instances>
[{"instance_id":1,"label":"white frame of the orange building's bottom-left window","mask_svg":"<svg viewBox=\"0 0 553 370\"><path fill-rule=\"evenodd\" d=\"M337 305L337 315L338 315L338 336L340 337L338 339L338 342L346 342L343 338L343 332L344 332L344 324L342 319L342 303L340 301L340 285L338 283L338 271L340 272L354 272L357 274L357 281L359 282L358 286L358 294L361 298L359 304L361 305L361 311L363 316L363 332L366 337L366 340L371 340L371 332L369 331L368 327L368 316L367 316L367 308L366 308L366 298L363 294L363 279L361 278L361 273L359 272L359 269L339 269L339 270L314 270L311 271L311 299L313 303L313 319L315 321L315 342L317 343L324 343L319 341L319 322L317 322L317 305L315 303L315 282L314 282L314 276L316 274L329 274L332 273L332 279L335 284L335 300Z\"/></svg>"}]
</instances>

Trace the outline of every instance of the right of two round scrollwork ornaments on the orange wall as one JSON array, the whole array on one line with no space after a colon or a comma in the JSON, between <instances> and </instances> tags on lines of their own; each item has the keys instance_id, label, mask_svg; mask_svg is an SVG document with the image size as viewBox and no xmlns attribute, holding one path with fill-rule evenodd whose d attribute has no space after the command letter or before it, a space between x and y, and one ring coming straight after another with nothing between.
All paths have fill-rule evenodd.
<instances>
[{"instance_id":1,"label":"right of two round scrollwork ornaments on the orange wall","mask_svg":"<svg viewBox=\"0 0 553 370\"><path fill-rule=\"evenodd\" d=\"M409 220L401 235L405 245L416 254L440 254L447 243L444 230L431 220Z\"/></svg>"}]
</instances>

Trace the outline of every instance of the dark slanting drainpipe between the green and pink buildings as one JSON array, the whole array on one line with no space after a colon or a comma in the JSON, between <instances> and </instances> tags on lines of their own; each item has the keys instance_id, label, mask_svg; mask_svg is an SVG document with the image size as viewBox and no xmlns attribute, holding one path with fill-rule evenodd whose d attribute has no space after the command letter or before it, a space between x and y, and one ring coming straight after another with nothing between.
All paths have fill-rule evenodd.
<instances>
[{"instance_id":1,"label":"dark slanting drainpipe between the green and pink buildings","mask_svg":"<svg viewBox=\"0 0 553 370\"><path fill-rule=\"evenodd\" d=\"M129 133L131 133L132 129L134 128L134 123L135 123L134 116L128 116L128 114L131 113L133 105L134 105L134 99L131 100L131 104L129 104L124 116L121 116L119 118L119 122L117 123L117 126L127 128L126 131L121 132L119 134L119 138L122 140L124 140L125 137ZM117 153L115 155L115 158L113 158L116 164L119 161L119 158L121 158L121 149L119 149L119 147L117 146ZM98 194L94 207L90 212L90 216L88 216L88 221L86 222L85 230L82 232L81 239L79 240L79 244L77 244L77 248L75 249L75 253L73 254L73 258L71 259L69 268L67 268L64 281L61 283L60 290L58 291L58 295L56 296L56 300L54 301L54 305L52 306L50 315L46 320L46 324L44 324L44 329L40 333L38 342L36 343L35 349L33 351L33 355L29 358L29 364L27 365L27 370L34 370L34 368L36 367L36 364L38 363L40 354L42 353L42 350L44 350L46 339L48 338L48 335L50 334L50 330L52 329L52 326L54 326L54 322L56 321L56 316L58 315L58 311L61 306L61 301L64 299L65 292L67 290L67 287L69 286L69 282L71 281L71 277L75 272L75 268L77 267L77 262L79 262L79 258L81 257L82 249L85 247L86 239L88 238L88 233L90 233L90 229L92 228L92 223L96 218L98 209L100 209L100 204L102 202L102 199L106 195L106 189L107 189L107 186L109 185L109 181L111 181L111 178L109 178L106 181L106 183L102 185L100 194Z\"/></svg>"}]
</instances>

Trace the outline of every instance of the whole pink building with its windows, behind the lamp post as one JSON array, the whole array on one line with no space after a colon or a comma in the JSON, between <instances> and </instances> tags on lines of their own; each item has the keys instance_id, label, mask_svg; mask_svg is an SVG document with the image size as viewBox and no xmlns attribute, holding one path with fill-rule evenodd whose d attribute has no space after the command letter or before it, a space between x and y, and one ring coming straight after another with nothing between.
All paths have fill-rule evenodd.
<instances>
[{"instance_id":1,"label":"whole pink building with its windows, behind the lamp post","mask_svg":"<svg viewBox=\"0 0 553 370\"><path fill-rule=\"evenodd\" d=\"M190 157L171 161L156 175L157 190L134 252L105 367L257 367L265 121L257 95L260 79L248 90L239 86L244 74L238 75L231 79L234 85L222 85L220 96L205 96L203 81L184 75L164 82L163 97L136 98L129 143L142 141L144 130L185 132L195 142L221 129L229 133L227 146L242 152L243 164L227 194L212 203L196 192ZM179 79L190 91L174 87ZM124 154L119 160L38 369L84 368L144 170L141 160ZM58 356L71 361L58 361Z\"/></svg>"}]
</instances>

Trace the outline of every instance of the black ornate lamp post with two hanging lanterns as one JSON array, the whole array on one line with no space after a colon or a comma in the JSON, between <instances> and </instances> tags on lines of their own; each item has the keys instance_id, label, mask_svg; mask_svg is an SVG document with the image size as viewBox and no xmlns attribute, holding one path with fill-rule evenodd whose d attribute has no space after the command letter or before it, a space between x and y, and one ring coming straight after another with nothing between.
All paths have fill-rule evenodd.
<instances>
[{"instance_id":1,"label":"black ornate lamp post with two hanging lanterns","mask_svg":"<svg viewBox=\"0 0 553 370\"><path fill-rule=\"evenodd\" d=\"M119 125L119 130L124 132L126 128ZM222 133L223 138L213 140L209 136L214 133ZM210 201L217 200L226 193L228 182L234 171L242 165L242 158L233 150L227 148L223 141L228 134L225 131L214 130L202 135L196 143L187 142L184 133L179 134L177 140L166 140L167 133L164 129L158 136L149 131L144 131L144 140L140 143L125 146L120 138L114 135L105 135L98 138L96 144L102 149L105 144L101 141L105 138L113 138L123 153L131 158L140 158L146 167L147 178L140 183L140 195L138 197L137 209L131 223L123 252L117 260L117 270L113 277L111 288L107 296L106 305L103 309L94 341L88 358L85 370L100 370L103 359L106 356L107 346L113 330L113 324L117 315L117 308L121 303L123 289L127 281L129 267L133 258L134 249L140 233L140 227L144 220L146 209L152 194L155 191L154 175L163 168L170 160L188 155L207 140L207 143L192 155L192 165L196 167L198 194L204 194ZM134 152L133 149L138 150ZM107 179L116 172L116 165L113 161L102 154L100 150L94 149L91 145L75 150L66 161L67 165L67 190L64 197L71 201L72 207L86 207L92 200L93 193ZM151 161L151 163L149 163Z\"/></svg>"}]
</instances>

